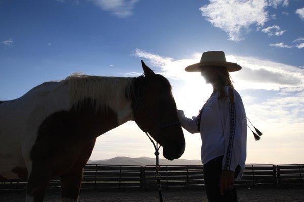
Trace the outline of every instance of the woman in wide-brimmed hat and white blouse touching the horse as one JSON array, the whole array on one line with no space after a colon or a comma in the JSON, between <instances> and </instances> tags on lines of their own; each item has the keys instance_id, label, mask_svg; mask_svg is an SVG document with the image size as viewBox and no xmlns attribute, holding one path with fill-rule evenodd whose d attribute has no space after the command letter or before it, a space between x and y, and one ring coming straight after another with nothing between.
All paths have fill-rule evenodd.
<instances>
[{"instance_id":1,"label":"woman in wide-brimmed hat and white blouse touching the horse","mask_svg":"<svg viewBox=\"0 0 304 202\"><path fill-rule=\"evenodd\" d=\"M210 202L237 201L233 184L245 167L246 113L229 76L229 72L240 69L236 63L226 62L222 51L204 52L199 63L185 69L201 72L213 87L198 116L189 119L178 110L181 126L190 133L201 133L205 190Z\"/></svg>"}]
</instances>

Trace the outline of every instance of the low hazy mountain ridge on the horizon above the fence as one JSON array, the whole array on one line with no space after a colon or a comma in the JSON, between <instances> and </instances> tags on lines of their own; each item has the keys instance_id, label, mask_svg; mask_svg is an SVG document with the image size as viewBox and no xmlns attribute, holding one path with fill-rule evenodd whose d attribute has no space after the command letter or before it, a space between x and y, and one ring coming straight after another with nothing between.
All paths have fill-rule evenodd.
<instances>
[{"instance_id":1,"label":"low hazy mountain ridge on the horizon above the fence","mask_svg":"<svg viewBox=\"0 0 304 202\"><path fill-rule=\"evenodd\" d=\"M201 160L187 160L187 159L175 159L173 161L167 159L160 159L160 165L202 165ZM155 165L155 158L151 157L114 157L112 159L105 160L89 160L88 164L105 164L105 165Z\"/></svg>"}]
</instances>

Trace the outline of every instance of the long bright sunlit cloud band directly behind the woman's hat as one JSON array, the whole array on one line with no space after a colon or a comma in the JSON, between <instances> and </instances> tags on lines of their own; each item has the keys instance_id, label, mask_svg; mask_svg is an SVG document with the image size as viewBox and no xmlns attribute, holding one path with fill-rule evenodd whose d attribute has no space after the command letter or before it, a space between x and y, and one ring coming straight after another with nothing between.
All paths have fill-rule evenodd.
<instances>
[{"instance_id":1,"label":"long bright sunlit cloud band directly behind the woman's hat","mask_svg":"<svg viewBox=\"0 0 304 202\"><path fill-rule=\"evenodd\" d=\"M148 59L150 64L159 67L158 72L168 78L192 83L197 82L196 79L201 80L199 74L191 74L184 71L186 66L200 61L200 53L195 53L189 58L180 60L162 57L140 49L136 49L135 55ZM227 55L226 58L227 61L235 62L242 66L241 71L231 73L241 89L279 90L287 87L304 86L304 70L299 67L253 57Z\"/></svg>"}]
</instances>

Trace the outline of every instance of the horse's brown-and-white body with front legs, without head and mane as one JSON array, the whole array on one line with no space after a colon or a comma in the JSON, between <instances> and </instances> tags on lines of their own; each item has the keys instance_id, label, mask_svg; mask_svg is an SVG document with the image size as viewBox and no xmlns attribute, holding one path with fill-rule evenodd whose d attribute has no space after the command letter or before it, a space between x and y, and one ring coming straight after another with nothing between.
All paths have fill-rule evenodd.
<instances>
[{"instance_id":1,"label":"horse's brown-and-white body with front legs, without head and mane","mask_svg":"<svg viewBox=\"0 0 304 202\"><path fill-rule=\"evenodd\" d=\"M132 80L122 79L125 84ZM69 85L47 82L0 104L0 176L27 177L27 201L40 201L52 176L60 176L63 198L77 200L82 169L96 137L132 120L131 100L118 99L126 97L127 86L96 110L94 96L72 100Z\"/></svg>"}]
</instances>

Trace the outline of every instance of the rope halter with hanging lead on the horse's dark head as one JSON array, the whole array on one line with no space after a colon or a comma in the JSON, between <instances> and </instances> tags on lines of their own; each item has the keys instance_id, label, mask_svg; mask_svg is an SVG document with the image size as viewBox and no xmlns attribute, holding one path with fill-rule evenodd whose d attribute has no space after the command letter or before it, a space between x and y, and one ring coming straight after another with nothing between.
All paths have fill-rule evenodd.
<instances>
[{"instance_id":1,"label":"rope halter with hanging lead on the horse's dark head","mask_svg":"<svg viewBox=\"0 0 304 202\"><path fill-rule=\"evenodd\" d=\"M135 93L135 90L136 90L136 93ZM155 149L155 170L156 170L156 173L155 173L155 178L156 178L156 181L157 181L157 188L158 188L158 192L159 192L159 198L160 198L160 201L163 202L163 196L162 196L162 190L161 190L161 175L159 173L159 168L160 168L160 165L159 165L159 149L161 147L161 145L158 144L158 141L159 141L159 137L160 137L160 133L161 133L161 130L164 129L164 128L168 128L170 126L174 126L174 125L178 125L180 124L179 121L173 121L173 122L169 122L169 123L166 123L166 124L160 124L152 115L151 113L147 110L147 108L144 106L144 104L141 102L141 99L140 99L140 95L139 95L139 89L136 88L133 91L133 96L136 100L136 104L133 108L133 116L134 116L134 119L135 119L135 112L138 108L138 105L141 105L141 107L144 109L144 111L146 112L146 114L150 117L150 119L157 125L158 127L158 132L157 132L157 141L156 143L154 143L151 135L149 135L149 133L147 131L144 131L142 130L143 132L145 132L145 134L148 136L148 138L150 139L150 141L152 142L153 146L154 146L154 149Z\"/></svg>"}]
</instances>

